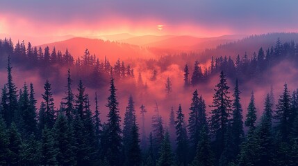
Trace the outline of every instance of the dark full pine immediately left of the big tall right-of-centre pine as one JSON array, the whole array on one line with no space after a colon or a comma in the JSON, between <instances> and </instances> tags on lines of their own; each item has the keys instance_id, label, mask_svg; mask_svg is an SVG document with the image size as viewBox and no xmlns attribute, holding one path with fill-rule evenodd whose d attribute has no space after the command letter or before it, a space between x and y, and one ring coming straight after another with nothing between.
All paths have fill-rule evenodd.
<instances>
[{"instance_id":1,"label":"dark full pine immediately left of the big tall right-of-centre pine","mask_svg":"<svg viewBox=\"0 0 298 166\"><path fill-rule=\"evenodd\" d=\"M201 127L207 125L206 104L202 97L198 96L197 90L192 93L192 104L190 105L190 118L188 119L188 132L190 135L190 158L194 158Z\"/></svg>"}]
</instances>

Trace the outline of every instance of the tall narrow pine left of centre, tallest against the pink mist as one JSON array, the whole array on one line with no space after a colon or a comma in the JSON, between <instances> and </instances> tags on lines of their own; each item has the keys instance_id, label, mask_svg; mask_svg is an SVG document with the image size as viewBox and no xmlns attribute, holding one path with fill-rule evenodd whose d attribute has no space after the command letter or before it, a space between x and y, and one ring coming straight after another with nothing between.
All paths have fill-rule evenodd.
<instances>
[{"instance_id":1,"label":"tall narrow pine left of centre, tallest against the pink mist","mask_svg":"<svg viewBox=\"0 0 298 166\"><path fill-rule=\"evenodd\" d=\"M119 116L119 103L117 102L117 96L114 84L114 78L112 77L110 80L110 96L108 97L108 104L106 107L109 109L108 113L108 122L107 122L107 132L108 132L108 142L107 145L108 150L106 151L106 157L110 165L120 165L120 151L122 148L122 137L121 137L121 129L120 129L120 121L121 118Z\"/></svg>"}]
</instances>

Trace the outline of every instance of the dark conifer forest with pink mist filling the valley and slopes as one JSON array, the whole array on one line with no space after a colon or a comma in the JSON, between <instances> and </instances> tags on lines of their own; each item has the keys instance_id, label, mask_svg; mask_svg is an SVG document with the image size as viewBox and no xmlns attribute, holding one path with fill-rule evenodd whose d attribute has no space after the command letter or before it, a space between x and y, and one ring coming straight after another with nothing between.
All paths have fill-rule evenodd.
<instances>
[{"instance_id":1,"label":"dark conifer forest with pink mist filling the valley and slopes","mask_svg":"<svg viewBox=\"0 0 298 166\"><path fill-rule=\"evenodd\" d=\"M261 109L256 109L256 91L242 107L240 90L251 90L245 82L270 83L264 77L274 74L270 69L282 61L297 65L298 44L278 38L274 46L260 47L251 57L210 57L210 65L204 66L197 60L180 62L181 89L190 104L173 100L179 92L174 93L176 82L168 76L163 100L154 103L148 117L144 100L153 96L148 91L151 82L176 56L181 55L142 59L147 68L136 72L133 63L118 59L112 65L107 57L99 61L88 49L74 59L68 50L0 40L0 68L6 68L1 80L7 78L1 85L0 165L298 165L298 90L290 91L285 80L279 97L267 93ZM15 80L14 68L38 69L43 87L25 82L19 89L15 82L24 80ZM150 79L144 83L145 70ZM210 83L213 98L206 99L197 87ZM53 88L65 92L61 102L54 102ZM41 98L35 89L42 89ZM104 89L108 98L94 89ZM138 101L140 93L144 104ZM125 103L120 103L123 98ZM160 109L171 100L175 103L165 118ZM120 104L125 107L120 109ZM151 120L150 127L145 119Z\"/></svg>"}]
</instances>

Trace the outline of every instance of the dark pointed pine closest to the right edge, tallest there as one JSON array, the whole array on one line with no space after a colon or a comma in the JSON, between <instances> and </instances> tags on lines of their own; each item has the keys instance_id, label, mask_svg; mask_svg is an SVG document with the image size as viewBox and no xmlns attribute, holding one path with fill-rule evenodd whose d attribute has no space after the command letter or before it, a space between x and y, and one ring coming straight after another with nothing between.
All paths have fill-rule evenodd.
<instances>
[{"instance_id":1,"label":"dark pointed pine closest to the right edge, tallest there","mask_svg":"<svg viewBox=\"0 0 298 166\"><path fill-rule=\"evenodd\" d=\"M285 83L283 93L280 95L278 103L276 104L276 111L274 119L277 120L277 128L281 133L284 141L288 140L290 133L289 118L291 115L290 106L290 92L288 91L288 84Z\"/></svg>"}]
</instances>

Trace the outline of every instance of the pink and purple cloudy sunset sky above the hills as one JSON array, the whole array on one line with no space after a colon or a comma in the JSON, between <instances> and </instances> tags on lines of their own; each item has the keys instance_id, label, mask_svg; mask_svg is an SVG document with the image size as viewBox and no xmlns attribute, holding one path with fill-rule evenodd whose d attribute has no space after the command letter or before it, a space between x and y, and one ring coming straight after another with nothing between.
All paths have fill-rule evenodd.
<instances>
[{"instance_id":1,"label":"pink and purple cloudy sunset sky above the hills","mask_svg":"<svg viewBox=\"0 0 298 166\"><path fill-rule=\"evenodd\" d=\"M0 0L0 33L215 37L297 32L297 6L295 0Z\"/></svg>"}]
</instances>

